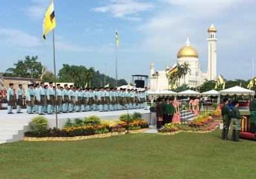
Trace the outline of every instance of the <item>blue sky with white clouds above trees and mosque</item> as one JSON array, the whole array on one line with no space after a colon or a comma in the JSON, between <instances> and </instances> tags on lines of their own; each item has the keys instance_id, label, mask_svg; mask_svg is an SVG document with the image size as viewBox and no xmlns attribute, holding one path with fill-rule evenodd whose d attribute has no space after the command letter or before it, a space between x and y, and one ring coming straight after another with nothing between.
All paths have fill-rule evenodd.
<instances>
[{"instance_id":1,"label":"blue sky with white clouds above trees and mosque","mask_svg":"<svg viewBox=\"0 0 256 179\"><path fill-rule=\"evenodd\" d=\"M41 39L50 0L1 1L0 72L25 56L38 56L50 70L52 36ZM217 72L226 79L252 76L256 64L256 1L253 0L55 0L57 69L85 65L115 76L115 30L120 36L118 78L149 74L176 62L189 37L202 70L208 60L207 29L217 29ZM256 65L255 65L256 72Z\"/></svg>"}]
</instances>

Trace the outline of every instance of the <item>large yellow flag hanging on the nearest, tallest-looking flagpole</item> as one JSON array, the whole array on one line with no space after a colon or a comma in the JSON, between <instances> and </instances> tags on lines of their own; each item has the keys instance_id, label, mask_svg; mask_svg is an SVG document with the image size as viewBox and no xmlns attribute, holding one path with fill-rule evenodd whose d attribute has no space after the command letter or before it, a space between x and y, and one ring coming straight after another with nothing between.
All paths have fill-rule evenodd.
<instances>
[{"instance_id":1,"label":"large yellow flag hanging on the nearest, tallest-looking flagpole","mask_svg":"<svg viewBox=\"0 0 256 179\"><path fill-rule=\"evenodd\" d=\"M56 27L55 15L54 15L54 3L50 3L45 18L43 19L43 39L46 39L46 35Z\"/></svg>"}]
</instances>

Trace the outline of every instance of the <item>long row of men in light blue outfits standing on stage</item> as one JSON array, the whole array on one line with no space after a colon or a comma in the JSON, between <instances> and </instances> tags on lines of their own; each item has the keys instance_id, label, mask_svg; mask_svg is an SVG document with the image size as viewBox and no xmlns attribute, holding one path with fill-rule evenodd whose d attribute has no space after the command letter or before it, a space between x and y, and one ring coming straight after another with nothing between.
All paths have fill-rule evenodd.
<instances>
[{"instance_id":1,"label":"long row of men in light blue outfits standing on stage","mask_svg":"<svg viewBox=\"0 0 256 179\"><path fill-rule=\"evenodd\" d=\"M26 92L26 103L28 114L39 115L58 113L81 112L81 111L116 111L123 109L147 109L149 94L147 88L142 91L137 89L116 89L116 88L74 88L73 85L60 84L49 86L41 82L36 85L28 85ZM55 96L56 94L56 96ZM17 89L17 113L21 113L23 98L22 85ZM12 107L15 105L13 84L7 92L8 114L13 114Z\"/></svg>"}]
</instances>

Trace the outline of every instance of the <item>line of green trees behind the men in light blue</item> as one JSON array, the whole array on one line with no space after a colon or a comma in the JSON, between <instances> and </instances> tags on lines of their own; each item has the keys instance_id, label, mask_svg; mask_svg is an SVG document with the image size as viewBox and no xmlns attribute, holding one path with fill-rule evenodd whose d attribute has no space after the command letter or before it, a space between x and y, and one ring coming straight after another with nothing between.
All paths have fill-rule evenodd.
<instances>
[{"instance_id":1,"label":"line of green trees behind the men in light blue","mask_svg":"<svg viewBox=\"0 0 256 179\"><path fill-rule=\"evenodd\" d=\"M38 61L37 56L32 56L31 58L30 56L26 56L24 60L18 60L17 63L14 63L14 67L8 68L3 75L8 77L39 79L41 78L42 70L43 81L54 81L54 74ZM74 83L75 86L80 87L84 87L85 84L87 84L87 87L103 87L104 80L105 74L101 74L93 67L87 68L83 65L63 64L56 76L56 81L59 83ZM114 78L106 76L106 84L108 83L110 87L116 85ZM127 85L127 81L125 81L125 79L118 79L118 86L121 85Z\"/></svg>"}]
</instances>

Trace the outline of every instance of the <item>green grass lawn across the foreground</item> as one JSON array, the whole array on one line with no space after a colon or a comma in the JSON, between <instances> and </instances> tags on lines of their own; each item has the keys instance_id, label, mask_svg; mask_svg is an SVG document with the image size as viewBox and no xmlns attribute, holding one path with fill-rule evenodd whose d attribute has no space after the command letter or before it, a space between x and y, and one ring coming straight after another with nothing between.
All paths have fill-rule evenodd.
<instances>
[{"instance_id":1,"label":"green grass lawn across the foreground","mask_svg":"<svg viewBox=\"0 0 256 179\"><path fill-rule=\"evenodd\" d=\"M220 132L8 143L0 178L255 178L256 142Z\"/></svg>"}]
</instances>

